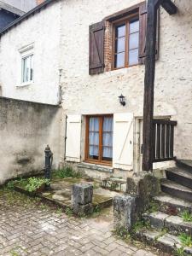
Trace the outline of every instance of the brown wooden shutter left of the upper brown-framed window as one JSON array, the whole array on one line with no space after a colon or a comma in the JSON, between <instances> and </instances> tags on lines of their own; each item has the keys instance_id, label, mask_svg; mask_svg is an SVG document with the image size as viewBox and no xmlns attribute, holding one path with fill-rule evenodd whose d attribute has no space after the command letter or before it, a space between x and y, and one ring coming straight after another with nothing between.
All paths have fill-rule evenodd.
<instances>
[{"instance_id":1,"label":"brown wooden shutter left of the upper brown-framed window","mask_svg":"<svg viewBox=\"0 0 192 256\"><path fill-rule=\"evenodd\" d=\"M90 74L104 71L104 22L90 25Z\"/></svg>"}]
</instances>

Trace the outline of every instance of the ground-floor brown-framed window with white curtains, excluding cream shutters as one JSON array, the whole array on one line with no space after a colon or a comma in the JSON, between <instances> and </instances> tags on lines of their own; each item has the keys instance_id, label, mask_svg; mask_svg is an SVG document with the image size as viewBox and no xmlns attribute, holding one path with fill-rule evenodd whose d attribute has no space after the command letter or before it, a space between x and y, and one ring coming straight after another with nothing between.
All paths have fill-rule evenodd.
<instances>
[{"instance_id":1,"label":"ground-floor brown-framed window with white curtains, excluding cream shutters","mask_svg":"<svg viewBox=\"0 0 192 256\"><path fill-rule=\"evenodd\" d=\"M89 116L86 126L85 159L110 164L113 159L113 116Z\"/></svg>"}]
</instances>

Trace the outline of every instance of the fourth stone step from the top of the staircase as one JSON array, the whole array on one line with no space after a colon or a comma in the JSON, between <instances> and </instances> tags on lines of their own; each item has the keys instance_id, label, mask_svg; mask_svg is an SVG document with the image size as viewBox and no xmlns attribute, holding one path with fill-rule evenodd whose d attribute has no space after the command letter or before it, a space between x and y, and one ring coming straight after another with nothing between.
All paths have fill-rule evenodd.
<instances>
[{"instance_id":1,"label":"fourth stone step from the top of the staircase","mask_svg":"<svg viewBox=\"0 0 192 256\"><path fill-rule=\"evenodd\" d=\"M184 211L192 213L192 203L184 201L172 195L161 193L154 197L154 202L159 206L161 212L178 215Z\"/></svg>"}]
</instances>

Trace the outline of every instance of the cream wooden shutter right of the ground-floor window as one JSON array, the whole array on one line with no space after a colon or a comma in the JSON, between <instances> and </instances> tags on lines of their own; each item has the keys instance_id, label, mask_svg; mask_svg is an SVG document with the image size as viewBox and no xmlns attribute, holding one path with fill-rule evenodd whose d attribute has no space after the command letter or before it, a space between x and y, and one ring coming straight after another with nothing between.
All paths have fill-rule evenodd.
<instances>
[{"instance_id":1,"label":"cream wooden shutter right of the ground-floor window","mask_svg":"<svg viewBox=\"0 0 192 256\"><path fill-rule=\"evenodd\" d=\"M133 114L113 115L113 167L133 168Z\"/></svg>"}]
</instances>

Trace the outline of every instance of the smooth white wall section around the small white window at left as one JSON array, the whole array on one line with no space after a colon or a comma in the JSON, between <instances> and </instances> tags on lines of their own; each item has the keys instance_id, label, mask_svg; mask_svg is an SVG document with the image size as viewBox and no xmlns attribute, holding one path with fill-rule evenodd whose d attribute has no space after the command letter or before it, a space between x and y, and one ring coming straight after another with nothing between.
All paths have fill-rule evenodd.
<instances>
[{"instance_id":1,"label":"smooth white wall section around the small white window at left","mask_svg":"<svg viewBox=\"0 0 192 256\"><path fill-rule=\"evenodd\" d=\"M55 1L10 29L0 39L0 85L5 97L59 102L61 2ZM19 49L34 44L34 83L21 84Z\"/></svg>"}]
</instances>

